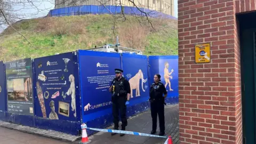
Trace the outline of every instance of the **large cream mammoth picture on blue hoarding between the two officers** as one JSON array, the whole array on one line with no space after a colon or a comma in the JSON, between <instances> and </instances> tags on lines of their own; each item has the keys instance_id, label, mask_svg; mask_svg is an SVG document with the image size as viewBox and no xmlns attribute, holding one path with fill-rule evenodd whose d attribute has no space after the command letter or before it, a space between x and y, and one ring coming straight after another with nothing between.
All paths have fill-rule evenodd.
<instances>
[{"instance_id":1,"label":"large cream mammoth picture on blue hoarding between the two officers","mask_svg":"<svg viewBox=\"0 0 256 144\"><path fill-rule=\"evenodd\" d=\"M148 79L147 78L143 79L143 73L140 69L139 72L129 80L129 83L131 86L131 98L133 98L132 90L134 90L134 89L136 89L136 97L140 96L140 79L142 81L141 82L142 90L143 90L143 92L145 92L145 90L143 88L143 83L146 83L148 81Z\"/></svg>"}]
</instances>

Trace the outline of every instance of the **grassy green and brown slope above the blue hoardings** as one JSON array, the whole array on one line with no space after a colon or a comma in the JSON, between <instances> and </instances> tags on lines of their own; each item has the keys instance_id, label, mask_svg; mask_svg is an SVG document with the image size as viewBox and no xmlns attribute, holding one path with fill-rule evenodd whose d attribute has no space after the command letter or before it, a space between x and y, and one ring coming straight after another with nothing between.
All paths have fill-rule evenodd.
<instances>
[{"instance_id":1,"label":"grassy green and brown slope above the blue hoardings","mask_svg":"<svg viewBox=\"0 0 256 144\"><path fill-rule=\"evenodd\" d=\"M176 20L151 19L149 24L126 16L114 25L111 15L83 15L72 17L31 19L13 25L29 44L12 28L0 35L0 60L37 58L55 53L90 49L115 44L141 50L146 55L177 55L178 30Z\"/></svg>"}]
</instances>

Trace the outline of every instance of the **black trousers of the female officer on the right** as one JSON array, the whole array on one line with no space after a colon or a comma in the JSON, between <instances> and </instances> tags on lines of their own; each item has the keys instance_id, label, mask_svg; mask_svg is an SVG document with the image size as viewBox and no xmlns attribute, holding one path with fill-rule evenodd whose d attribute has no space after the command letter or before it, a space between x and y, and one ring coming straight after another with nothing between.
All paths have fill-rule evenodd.
<instances>
[{"instance_id":1,"label":"black trousers of the female officer on the right","mask_svg":"<svg viewBox=\"0 0 256 144\"><path fill-rule=\"evenodd\" d=\"M159 118L159 127L160 131L164 132L165 131L165 126L164 126L164 103L163 101L154 101L150 102L150 109L151 109L151 117L153 121L152 125L152 130L156 131L156 126L157 126L157 114Z\"/></svg>"}]
</instances>

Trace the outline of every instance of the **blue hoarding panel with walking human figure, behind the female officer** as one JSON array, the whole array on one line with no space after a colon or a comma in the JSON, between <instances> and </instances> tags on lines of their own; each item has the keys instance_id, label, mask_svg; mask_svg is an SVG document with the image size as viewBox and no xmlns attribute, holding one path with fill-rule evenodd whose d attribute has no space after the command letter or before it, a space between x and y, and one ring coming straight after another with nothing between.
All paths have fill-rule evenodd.
<instances>
[{"instance_id":1,"label":"blue hoarding panel with walking human figure, behind the female officer","mask_svg":"<svg viewBox=\"0 0 256 144\"><path fill-rule=\"evenodd\" d=\"M154 83L154 75L161 75L161 82L167 90L167 97L179 96L178 55L149 56L150 84Z\"/></svg>"}]
</instances>

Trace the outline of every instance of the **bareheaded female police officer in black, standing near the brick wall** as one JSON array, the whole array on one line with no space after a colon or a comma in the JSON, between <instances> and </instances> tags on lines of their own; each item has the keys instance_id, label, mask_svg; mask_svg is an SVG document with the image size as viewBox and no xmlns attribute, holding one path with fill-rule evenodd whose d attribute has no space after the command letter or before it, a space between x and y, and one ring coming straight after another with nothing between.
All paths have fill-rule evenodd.
<instances>
[{"instance_id":1,"label":"bareheaded female police officer in black, standing near the brick wall","mask_svg":"<svg viewBox=\"0 0 256 144\"><path fill-rule=\"evenodd\" d=\"M151 109L151 117L153 121L151 134L156 133L156 125L157 125L157 114L159 118L159 127L160 133L159 135L163 136L165 134L165 122L164 122L164 99L167 97L167 92L163 83L161 83L161 76L156 74L154 76L155 83L150 86L150 109ZM164 97L163 97L164 94Z\"/></svg>"}]
</instances>

